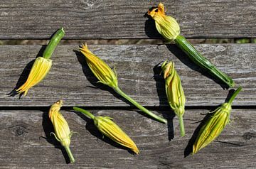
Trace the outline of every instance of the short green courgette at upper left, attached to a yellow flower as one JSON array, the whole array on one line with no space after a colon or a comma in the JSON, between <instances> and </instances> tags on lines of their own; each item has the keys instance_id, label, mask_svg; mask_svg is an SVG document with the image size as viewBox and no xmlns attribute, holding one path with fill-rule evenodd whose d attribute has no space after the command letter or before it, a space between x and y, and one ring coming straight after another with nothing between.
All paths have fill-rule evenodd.
<instances>
[{"instance_id":1,"label":"short green courgette at upper left, attached to a yellow flower","mask_svg":"<svg viewBox=\"0 0 256 169\"><path fill-rule=\"evenodd\" d=\"M46 46L46 50L43 51L43 58L50 59L53 51L55 50L56 46L64 35L64 28L60 28L56 33L54 33L53 37L50 39L50 42Z\"/></svg>"}]
</instances>

